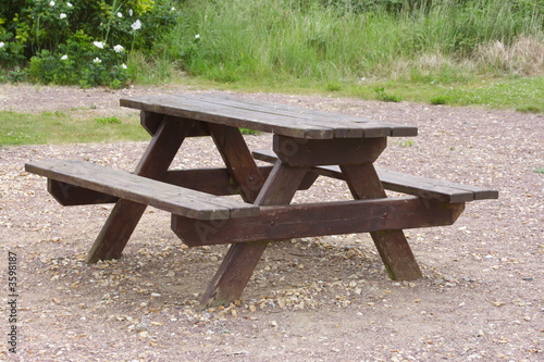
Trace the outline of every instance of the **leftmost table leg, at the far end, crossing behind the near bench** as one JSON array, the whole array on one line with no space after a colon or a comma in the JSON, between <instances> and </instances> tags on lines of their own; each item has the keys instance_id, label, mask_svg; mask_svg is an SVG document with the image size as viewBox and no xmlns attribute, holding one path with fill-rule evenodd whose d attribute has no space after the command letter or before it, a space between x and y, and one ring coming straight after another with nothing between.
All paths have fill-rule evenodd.
<instances>
[{"instance_id":1,"label":"leftmost table leg, at the far end, crossing behind the near bench","mask_svg":"<svg viewBox=\"0 0 544 362\"><path fill-rule=\"evenodd\" d=\"M135 174L154 179L164 178L172 160L193 125L194 122L182 122L171 116L164 116L141 157ZM121 253L146 208L145 204L120 199L89 250L87 263L121 258Z\"/></svg>"}]
</instances>

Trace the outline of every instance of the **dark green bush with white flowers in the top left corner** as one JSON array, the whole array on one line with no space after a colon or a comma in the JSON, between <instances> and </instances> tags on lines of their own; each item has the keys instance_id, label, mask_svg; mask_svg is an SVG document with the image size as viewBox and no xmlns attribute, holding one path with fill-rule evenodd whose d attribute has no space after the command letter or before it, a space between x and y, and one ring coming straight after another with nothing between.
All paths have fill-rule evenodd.
<instances>
[{"instance_id":1,"label":"dark green bush with white flowers in the top left corner","mask_svg":"<svg viewBox=\"0 0 544 362\"><path fill-rule=\"evenodd\" d=\"M126 85L128 52L150 53L177 17L168 0L5 1L0 67L28 65L30 80L84 87Z\"/></svg>"}]
</instances>

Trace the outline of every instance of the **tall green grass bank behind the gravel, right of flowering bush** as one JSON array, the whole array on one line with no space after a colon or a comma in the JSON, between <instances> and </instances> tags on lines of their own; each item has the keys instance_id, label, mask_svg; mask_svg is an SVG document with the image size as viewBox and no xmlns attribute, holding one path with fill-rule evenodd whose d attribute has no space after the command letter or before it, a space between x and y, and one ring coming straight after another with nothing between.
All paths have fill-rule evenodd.
<instances>
[{"instance_id":1,"label":"tall green grass bank behind the gravel, right of flowering bush","mask_svg":"<svg viewBox=\"0 0 544 362\"><path fill-rule=\"evenodd\" d=\"M189 74L238 84L447 84L544 72L542 1L375 3L188 1L165 49Z\"/></svg>"}]
</instances>

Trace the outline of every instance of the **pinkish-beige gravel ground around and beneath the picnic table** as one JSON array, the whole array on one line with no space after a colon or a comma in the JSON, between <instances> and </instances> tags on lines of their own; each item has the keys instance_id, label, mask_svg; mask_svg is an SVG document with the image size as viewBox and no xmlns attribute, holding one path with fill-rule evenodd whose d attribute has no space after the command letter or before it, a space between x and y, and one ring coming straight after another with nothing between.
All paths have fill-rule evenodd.
<instances>
[{"instance_id":1,"label":"pinkish-beige gravel ground around and beneath the picnic table","mask_svg":"<svg viewBox=\"0 0 544 362\"><path fill-rule=\"evenodd\" d=\"M103 90L1 86L0 110L134 113L131 95L185 87ZM188 249L169 215L148 209L119 261L84 258L111 205L60 207L44 178L24 172L42 158L133 170L145 142L0 148L2 255L0 360L20 361L541 361L543 299L543 116L478 108L251 93L419 127L394 138L381 167L481 185L498 200L468 203L448 227L406 230L423 271L387 278L367 235L273 244L242 301L200 310L198 298L226 247ZM91 107L92 105L92 107ZM250 148L270 147L249 136ZM174 163L215 165L213 146L190 139ZM297 200L346 199L318 179ZM8 252L16 254L17 353L8 345ZM5 322L4 322L5 321Z\"/></svg>"}]
</instances>

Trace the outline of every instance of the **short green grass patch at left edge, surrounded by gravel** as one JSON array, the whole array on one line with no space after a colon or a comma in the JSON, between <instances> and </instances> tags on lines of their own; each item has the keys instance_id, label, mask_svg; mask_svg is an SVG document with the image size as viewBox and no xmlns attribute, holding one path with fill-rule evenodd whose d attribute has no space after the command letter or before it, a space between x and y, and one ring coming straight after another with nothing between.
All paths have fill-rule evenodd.
<instances>
[{"instance_id":1,"label":"short green grass patch at left edge, surrounded by gravel","mask_svg":"<svg viewBox=\"0 0 544 362\"><path fill-rule=\"evenodd\" d=\"M63 112L0 112L0 146L146 140L137 117L79 117Z\"/></svg>"}]
</instances>

